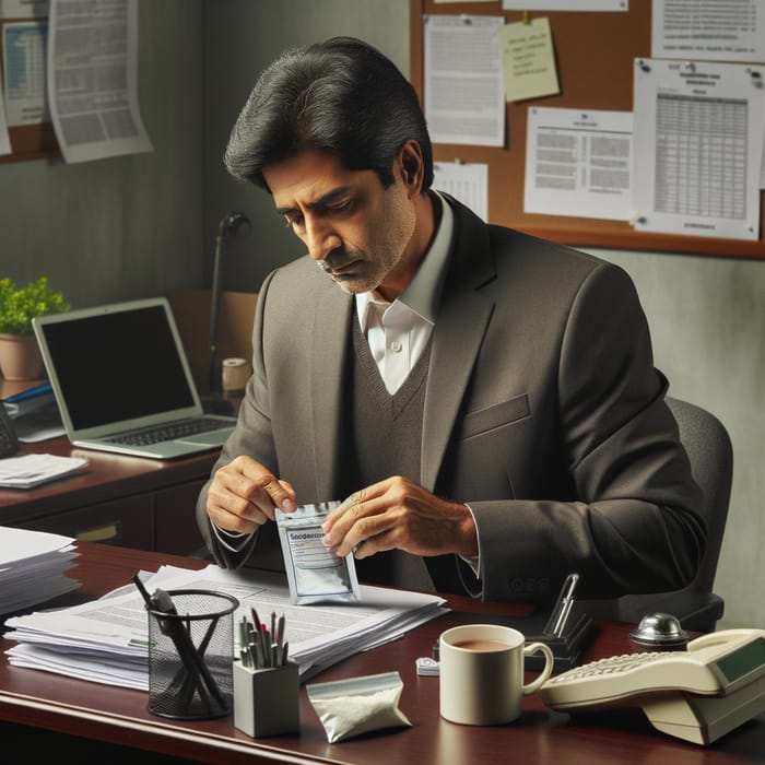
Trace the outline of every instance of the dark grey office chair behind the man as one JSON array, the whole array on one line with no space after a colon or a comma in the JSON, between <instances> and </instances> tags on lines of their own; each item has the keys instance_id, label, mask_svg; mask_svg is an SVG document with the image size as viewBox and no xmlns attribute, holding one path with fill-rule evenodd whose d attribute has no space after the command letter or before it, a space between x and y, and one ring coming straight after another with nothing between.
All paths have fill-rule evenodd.
<instances>
[{"instance_id":1,"label":"dark grey office chair behind the man","mask_svg":"<svg viewBox=\"0 0 765 765\"><path fill-rule=\"evenodd\" d=\"M707 550L696 578L671 592L628 595L614 600L586 601L592 615L637 624L646 614L676 616L685 629L714 632L725 602L711 591L728 518L733 478L733 447L722 423L710 412L687 401L667 397L680 428L680 440L691 460L691 472L702 487L702 515L707 523Z\"/></svg>"}]
</instances>

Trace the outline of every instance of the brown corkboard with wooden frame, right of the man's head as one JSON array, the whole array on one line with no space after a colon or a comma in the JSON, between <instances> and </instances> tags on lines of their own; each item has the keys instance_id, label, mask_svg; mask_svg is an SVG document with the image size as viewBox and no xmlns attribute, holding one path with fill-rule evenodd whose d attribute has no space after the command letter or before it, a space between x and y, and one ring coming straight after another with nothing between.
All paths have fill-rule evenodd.
<instances>
[{"instance_id":1,"label":"brown corkboard with wooden frame, right of the man's head","mask_svg":"<svg viewBox=\"0 0 765 765\"><path fill-rule=\"evenodd\" d=\"M627 222L523 212L526 116L530 106L632 111L634 59L650 57L650 7L632 0L627 12L538 11L546 16L553 34L561 93L540 99L507 104L504 149L434 144L438 162L478 162L489 165L489 220L545 239L580 247L607 247L644 251L690 252L728 257L765 258L762 221L765 197L761 192L758 240L680 236L636 232ZM507 23L523 19L520 11L503 11L501 2L437 3L410 0L410 79L423 102L423 15L504 15Z\"/></svg>"}]
</instances>

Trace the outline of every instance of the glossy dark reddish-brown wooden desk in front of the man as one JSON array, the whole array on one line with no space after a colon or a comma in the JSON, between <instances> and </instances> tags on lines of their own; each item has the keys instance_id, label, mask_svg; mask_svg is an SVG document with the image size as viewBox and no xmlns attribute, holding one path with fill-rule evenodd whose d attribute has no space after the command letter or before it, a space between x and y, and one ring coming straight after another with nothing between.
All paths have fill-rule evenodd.
<instances>
[{"instance_id":1,"label":"glossy dark reddish-brown wooden desk in front of the man","mask_svg":"<svg viewBox=\"0 0 765 765\"><path fill-rule=\"evenodd\" d=\"M95 598L129 582L139 568L155 570L163 563L198 568L200 561L181 560L117 546L83 543L74 575L81 591L62 600ZM321 723L301 692L299 735L250 739L237 730L231 717L198 722L170 721L146 711L148 694L36 670L9 667L0 657L0 728L3 755L21 761L49 733L68 734L57 742L56 756L72 751L85 737L109 746L144 750L128 752L143 765L160 755L178 762L208 763L363 763L391 765L469 765L472 763L565 763L565 765L725 765L763 762L765 716L760 716L708 748L697 746L655 731L639 710L570 718L548 710L538 697L523 701L523 715L516 722L497 727L458 726L438 715L438 680L417 676L414 660L429 654L438 634L460 621L460 611L525 613L513 605L486 605L468 598L450 598L452 613L425 624L404 638L360 654L322 673L317 681L337 680L398 670L404 682L400 707L413 727L384 731L356 740L329 744ZM585 660L632 651L628 624L601 623L601 632ZM0 640L3 651L11 644ZM17 726L22 726L19 728ZM34 730L31 730L34 729ZM21 734L14 733L21 731ZM92 742L92 746L96 746ZM106 745L106 744L105 744ZM14 751L14 746L17 751ZM107 750L114 754L114 750ZM150 755L149 752L160 753ZM115 762L125 762L125 752ZM3 756L3 761L7 760ZM32 757L34 761L34 757ZM80 762L94 762L80 756Z\"/></svg>"}]
</instances>

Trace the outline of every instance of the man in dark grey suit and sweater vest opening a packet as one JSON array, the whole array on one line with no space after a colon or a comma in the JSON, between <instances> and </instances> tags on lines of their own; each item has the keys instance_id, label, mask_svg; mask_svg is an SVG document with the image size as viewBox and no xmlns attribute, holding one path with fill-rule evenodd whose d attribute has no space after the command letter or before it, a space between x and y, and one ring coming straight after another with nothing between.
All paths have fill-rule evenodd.
<instances>
[{"instance_id":1,"label":"man in dark grey suit and sweater vest opening a packet","mask_svg":"<svg viewBox=\"0 0 765 765\"><path fill-rule=\"evenodd\" d=\"M274 507L343 499L362 580L485 600L674 589L706 530L628 276L431 189L411 85L366 44L261 75L226 165L308 255L259 293L254 375L198 503L224 566L283 567ZM317 266L319 268L317 268Z\"/></svg>"}]
</instances>

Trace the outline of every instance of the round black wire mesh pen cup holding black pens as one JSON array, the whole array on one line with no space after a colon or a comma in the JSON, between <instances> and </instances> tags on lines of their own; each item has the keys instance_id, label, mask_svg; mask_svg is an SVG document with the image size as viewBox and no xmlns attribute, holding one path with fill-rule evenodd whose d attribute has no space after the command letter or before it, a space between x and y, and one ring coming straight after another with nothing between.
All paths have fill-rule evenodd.
<instances>
[{"instance_id":1,"label":"round black wire mesh pen cup holding black pens","mask_svg":"<svg viewBox=\"0 0 765 765\"><path fill-rule=\"evenodd\" d=\"M179 720L231 714L234 611L239 601L210 590L169 590L172 610L149 614L149 711Z\"/></svg>"}]
</instances>

